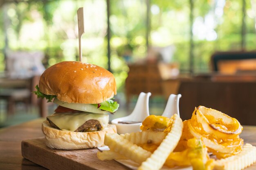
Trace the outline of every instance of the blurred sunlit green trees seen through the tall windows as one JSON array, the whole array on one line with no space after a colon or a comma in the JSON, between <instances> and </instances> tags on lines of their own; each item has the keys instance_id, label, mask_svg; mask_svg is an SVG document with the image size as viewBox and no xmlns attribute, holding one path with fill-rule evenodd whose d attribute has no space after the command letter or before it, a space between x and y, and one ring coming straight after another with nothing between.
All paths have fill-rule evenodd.
<instances>
[{"instance_id":1,"label":"blurred sunlit green trees seen through the tall windows","mask_svg":"<svg viewBox=\"0 0 256 170\"><path fill-rule=\"evenodd\" d=\"M147 56L150 46L173 45L172 62L189 72L190 29L193 33L194 72L210 72L215 51L242 50L242 0L193 0L193 26L189 26L189 0L149 0L150 28L147 28L147 0L110 0L111 68L119 90L124 87L128 64ZM248 0L245 12L245 48L255 50L256 1ZM0 10L0 70L3 50L42 50L46 67L59 61L78 59L76 10L85 9L83 61L108 67L106 0L8 1ZM5 36L6 35L6 36Z\"/></svg>"}]
</instances>

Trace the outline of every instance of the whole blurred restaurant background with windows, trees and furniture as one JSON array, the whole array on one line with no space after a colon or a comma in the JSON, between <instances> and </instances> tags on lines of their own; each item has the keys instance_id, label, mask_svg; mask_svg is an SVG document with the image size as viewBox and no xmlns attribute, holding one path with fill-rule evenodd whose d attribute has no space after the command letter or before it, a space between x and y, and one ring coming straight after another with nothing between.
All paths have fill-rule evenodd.
<instances>
[{"instance_id":1,"label":"whole blurred restaurant background with windows, trees and furniture","mask_svg":"<svg viewBox=\"0 0 256 170\"><path fill-rule=\"evenodd\" d=\"M0 127L53 113L31 92L45 68L78 61L79 7L83 61L117 81L115 117L151 92L151 114L182 94L183 119L204 105L256 125L256 0L0 0Z\"/></svg>"}]
</instances>

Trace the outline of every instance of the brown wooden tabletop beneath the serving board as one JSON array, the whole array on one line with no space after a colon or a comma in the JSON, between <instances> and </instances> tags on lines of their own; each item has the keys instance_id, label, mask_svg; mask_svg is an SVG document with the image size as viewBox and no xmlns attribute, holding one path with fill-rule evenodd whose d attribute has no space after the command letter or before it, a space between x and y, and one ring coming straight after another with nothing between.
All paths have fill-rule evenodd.
<instances>
[{"instance_id":1,"label":"brown wooden tabletop beneath the serving board","mask_svg":"<svg viewBox=\"0 0 256 170\"><path fill-rule=\"evenodd\" d=\"M0 129L0 170L44 170L45 168L24 159L21 155L21 141L43 137L41 123L45 118L39 118L16 126ZM244 126L240 135L245 143L256 146L256 126ZM126 169L126 167L124 167ZM247 168L256 169L256 164Z\"/></svg>"}]
</instances>

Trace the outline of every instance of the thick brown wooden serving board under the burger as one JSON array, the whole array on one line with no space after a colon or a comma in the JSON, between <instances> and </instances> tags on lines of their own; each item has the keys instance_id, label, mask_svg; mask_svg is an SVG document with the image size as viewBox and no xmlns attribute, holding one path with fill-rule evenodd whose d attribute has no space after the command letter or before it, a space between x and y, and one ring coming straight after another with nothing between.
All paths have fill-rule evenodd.
<instances>
[{"instance_id":1,"label":"thick brown wooden serving board under the burger","mask_svg":"<svg viewBox=\"0 0 256 170\"><path fill-rule=\"evenodd\" d=\"M50 170L130 170L117 161L100 161L99 149L58 150L50 149L44 143L44 137L21 142L22 156Z\"/></svg>"}]
</instances>

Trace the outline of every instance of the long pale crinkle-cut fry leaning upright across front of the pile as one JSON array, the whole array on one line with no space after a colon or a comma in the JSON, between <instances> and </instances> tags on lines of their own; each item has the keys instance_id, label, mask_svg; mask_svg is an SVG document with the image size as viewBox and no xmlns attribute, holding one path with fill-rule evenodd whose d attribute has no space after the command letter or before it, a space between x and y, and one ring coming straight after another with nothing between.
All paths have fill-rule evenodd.
<instances>
[{"instance_id":1,"label":"long pale crinkle-cut fry leaning upright across front of the pile","mask_svg":"<svg viewBox=\"0 0 256 170\"><path fill-rule=\"evenodd\" d=\"M146 160L144 161L138 170L158 170L160 169L168 155L175 149L177 146L180 137L182 135L183 122L182 119L174 114L173 124L171 126L171 131L167 134L163 142L159 145L157 150Z\"/></svg>"}]
</instances>

